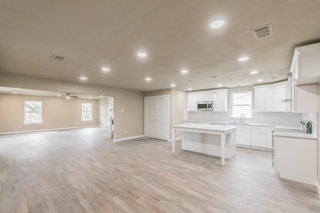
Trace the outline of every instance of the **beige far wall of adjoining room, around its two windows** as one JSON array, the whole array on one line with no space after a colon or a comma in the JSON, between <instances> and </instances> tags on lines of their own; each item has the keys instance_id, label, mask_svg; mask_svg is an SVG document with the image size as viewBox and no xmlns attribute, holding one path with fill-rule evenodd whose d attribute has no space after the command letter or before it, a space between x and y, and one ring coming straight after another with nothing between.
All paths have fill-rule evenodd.
<instances>
[{"instance_id":1,"label":"beige far wall of adjoining room, around its two windows","mask_svg":"<svg viewBox=\"0 0 320 213\"><path fill-rule=\"evenodd\" d=\"M42 101L43 124L23 125L26 100ZM97 100L0 94L0 103L0 133L98 125ZM92 122L81 122L81 103L92 103Z\"/></svg>"}]
</instances>

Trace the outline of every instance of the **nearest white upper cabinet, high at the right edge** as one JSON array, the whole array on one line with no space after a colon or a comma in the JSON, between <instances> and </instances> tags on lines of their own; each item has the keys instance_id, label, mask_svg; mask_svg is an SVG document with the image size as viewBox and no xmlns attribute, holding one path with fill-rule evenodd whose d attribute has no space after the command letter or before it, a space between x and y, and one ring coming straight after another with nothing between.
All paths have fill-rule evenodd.
<instances>
[{"instance_id":1,"label":"nearest white upper cabinet, high at the right edge","mask_svg":"<svg viewBox=\"0 0 320 213\"><path fill-rule=\"evenodd\" d=\"M314 84L320 82L320 42L296 47L290 72L292 84Z\"/></svg>"}]
</instances>

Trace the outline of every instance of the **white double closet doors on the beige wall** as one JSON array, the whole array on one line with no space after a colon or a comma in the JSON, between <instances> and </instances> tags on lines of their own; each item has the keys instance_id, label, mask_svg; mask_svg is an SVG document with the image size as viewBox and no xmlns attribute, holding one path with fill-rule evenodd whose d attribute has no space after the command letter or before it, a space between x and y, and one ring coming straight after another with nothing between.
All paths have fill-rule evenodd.
<instances>
[{"instance_id":1,"label":"white double closet doors on the beige wall","mask_svg":"<svg viewBox=\"0 0 320 213\"><path fill-rule=\"evenodd\" d=\"M145 97L145 136L169 139L169 97Z\"/></svg>"}]
</instances>

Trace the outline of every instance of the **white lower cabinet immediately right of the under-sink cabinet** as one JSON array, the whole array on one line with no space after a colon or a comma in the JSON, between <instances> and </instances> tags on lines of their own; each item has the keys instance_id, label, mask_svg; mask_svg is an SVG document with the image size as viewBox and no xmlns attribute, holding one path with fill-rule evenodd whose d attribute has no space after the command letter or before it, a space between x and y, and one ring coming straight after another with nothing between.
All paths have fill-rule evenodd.
<instances>
[{"instance_id":1,"label":"white lower cabinet immediately right of the under-sink cabinet","mask_svg":"<svg viewBox=\"0 0 320 213\"><path fill-rule=\"evenodd\" d=\"M251 149L265 150L266 148L266 127L251 126Z\"/></svg>"}]
</instances>

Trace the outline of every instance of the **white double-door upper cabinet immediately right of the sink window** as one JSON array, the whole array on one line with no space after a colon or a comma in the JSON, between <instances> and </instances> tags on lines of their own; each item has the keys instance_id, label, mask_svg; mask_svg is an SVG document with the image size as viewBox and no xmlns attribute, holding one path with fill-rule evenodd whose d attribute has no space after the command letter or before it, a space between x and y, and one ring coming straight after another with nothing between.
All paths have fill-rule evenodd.
<instances>
[{"instance_id":1,"label":"white double-door upper cabinet immediately right of the sink window","mask_svg":"<svg viewBox=\"0 0 320 213\"><path fill-rule=\"evenodd\" d=\"M269 84L253 88L255 111L274 111L274 86Z\"/></svg>"}]
</instances>

